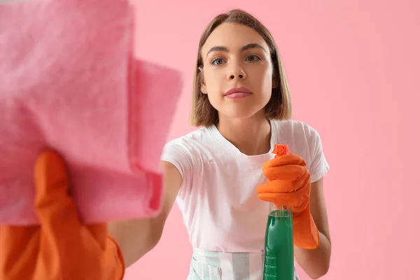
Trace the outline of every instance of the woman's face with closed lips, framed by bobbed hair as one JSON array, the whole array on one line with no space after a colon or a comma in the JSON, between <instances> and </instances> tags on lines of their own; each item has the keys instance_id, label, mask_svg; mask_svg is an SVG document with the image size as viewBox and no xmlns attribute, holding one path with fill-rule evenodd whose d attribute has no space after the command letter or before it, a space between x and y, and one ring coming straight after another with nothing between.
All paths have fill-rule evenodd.
<instances>
[{"instance_id":1,"label":"woman's face with closed lips, framed by bobbed hair","mask_svg":"<svg viewBox=\"0 0 420 280\"><path fill-rule=\"evenodd\" d=\"M202 48L201 90L219 117L263 113L272 94L272 61L265 40L244 25L224 23ZM261 115L263 116L263 115Z\"/></svg>"}]
</instances>

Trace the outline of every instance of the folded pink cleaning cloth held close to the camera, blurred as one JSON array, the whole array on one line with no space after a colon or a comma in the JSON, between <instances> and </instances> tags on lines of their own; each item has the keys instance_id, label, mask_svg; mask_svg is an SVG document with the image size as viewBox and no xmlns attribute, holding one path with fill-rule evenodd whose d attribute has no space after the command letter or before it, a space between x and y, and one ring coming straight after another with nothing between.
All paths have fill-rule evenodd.
<instances>
[{"instance_id":1,"label":"folded pink cleaning cloth held close to the camera, blurred","mask_svg":"<svg viewBox=\"0 0 420 280\"><path fill-rule=\"evenodd\" d=\"M38 223L33 168L67 160L86 223L158 214L181 75L134 59L123 0L0 4L0 225Z\"/></svg>"}]
</instances>

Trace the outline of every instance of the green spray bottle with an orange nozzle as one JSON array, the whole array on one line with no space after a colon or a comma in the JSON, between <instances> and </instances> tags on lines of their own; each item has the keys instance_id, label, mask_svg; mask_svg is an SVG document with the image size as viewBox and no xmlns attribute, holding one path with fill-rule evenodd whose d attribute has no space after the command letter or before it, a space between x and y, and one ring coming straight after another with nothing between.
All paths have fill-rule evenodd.
<instances>
[{"instance_id":1,"label":"green spray bottle with an orange nozzle","mask_svg":"<svg viewBox=\"0 0 420 280\"><path fill-rule=\"evenodd\" d=\"M287 145L274 147L276 157L290 153ZM293 249L293 214L286 207L270 203L265 230L263 280L295 279L295 253Z\"/></svg>"}]
</instances>

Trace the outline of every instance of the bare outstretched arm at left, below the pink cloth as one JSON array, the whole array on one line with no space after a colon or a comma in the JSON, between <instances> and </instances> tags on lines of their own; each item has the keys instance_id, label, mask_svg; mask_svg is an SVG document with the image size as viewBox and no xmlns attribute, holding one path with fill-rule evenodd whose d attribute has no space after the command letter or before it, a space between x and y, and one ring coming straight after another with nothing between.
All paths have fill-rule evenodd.
<instances>
[{"instance_id":1,"label":"bare outstretched arm at left, below the pink cloth","mask_svg":"<svg viewBox=\"0 0 420 280\"><path fill-rule=\"evenodd\" d=\"M109 223L109 235L116 239L123 252L125 265L129 267L158 244L169 212L182 184L178 169L169 162L162 162L164 188L162 211L156 218L134 219Z\"/></svg>"}]
</instances>

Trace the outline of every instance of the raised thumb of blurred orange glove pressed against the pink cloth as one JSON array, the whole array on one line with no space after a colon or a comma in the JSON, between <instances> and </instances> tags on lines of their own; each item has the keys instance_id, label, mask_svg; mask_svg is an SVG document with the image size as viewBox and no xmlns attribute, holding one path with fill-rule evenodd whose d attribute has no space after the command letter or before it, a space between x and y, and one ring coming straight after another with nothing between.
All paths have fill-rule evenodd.
<instances>
[{"instance_id":1,"label":"raised thumb of blurred orange glove pressed against the pink cloth","mask_svg":"<svg viewBox=\"0 0 420 280\"><path fill-rule=\"evenodd\" d=\"M34 184L35 209L43 229L58 233L72 232L80 227L76 204L69 195L66 165L57 153L44 151L38 156Z\"/></svg>"}]
</instances>

